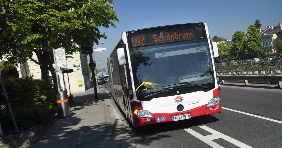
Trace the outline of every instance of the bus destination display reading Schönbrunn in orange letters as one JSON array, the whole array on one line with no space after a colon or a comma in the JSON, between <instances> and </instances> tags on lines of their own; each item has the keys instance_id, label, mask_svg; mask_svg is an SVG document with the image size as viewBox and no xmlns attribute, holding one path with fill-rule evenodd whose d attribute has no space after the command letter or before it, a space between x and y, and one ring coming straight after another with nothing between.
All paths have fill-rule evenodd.
<instances>
[{"instance_id":1,"label":"bus destination display reading Sch\u00f6nbrunn in orange letters","mask_svg":"<svg viewBox=\"0 0 282 148\"><path fill-rule=\"evenodd\" d=\"M193 26L193 28L180 27L165 30L158 29L147 32L131 33L130 44L132 47L140 47L181 40L203 39L204 36L205 33L202 25Z\"/></svg>"}]
</instances>

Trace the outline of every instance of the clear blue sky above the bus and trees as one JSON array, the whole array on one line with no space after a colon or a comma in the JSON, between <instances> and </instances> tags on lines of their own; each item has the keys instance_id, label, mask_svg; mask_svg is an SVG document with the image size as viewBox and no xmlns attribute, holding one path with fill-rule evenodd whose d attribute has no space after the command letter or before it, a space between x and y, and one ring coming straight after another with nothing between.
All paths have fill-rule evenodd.
<instances>
[{"instance_id":1,"label":"clear blue sky above the bus and trees","mask_svg":"<svg viewBox=\"0 0 282 148\"><path fill-rule=\"evenodd\" d=\"M247 33L249 25L258 19L265 29L282 23L281 0L113 0L113 8L119 22L116 28L99 28L108 39L101 39L93 48L106 47L103 52L95 52L98 69L107 67L107 58L121 39L121 33L149 27L204 22L209 27L210 38L224 37L232 40L236 31ZM99 58L101 56L101 58ZM99 64L99 65L97 65ZM105 69L104 69L105 70Z\"/></svg>"}]
</instances>

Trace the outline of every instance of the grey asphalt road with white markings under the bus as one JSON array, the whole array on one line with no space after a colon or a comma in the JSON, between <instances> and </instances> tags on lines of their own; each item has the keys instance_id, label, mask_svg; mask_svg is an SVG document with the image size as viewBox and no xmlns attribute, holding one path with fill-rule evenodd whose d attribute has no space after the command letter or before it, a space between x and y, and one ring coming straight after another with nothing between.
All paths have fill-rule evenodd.
<instances>
[{"instance_id":1,"label":"grey asphalt road with white markings under the bus","mask_svg":"<svg viewBox=\"0 0 282 148\"><path fill-rule=\"evenodd\" d=\"M282 147L281 91L224 85L221 113L127 129L140 148Z\"/></svg>"}]
</instances>

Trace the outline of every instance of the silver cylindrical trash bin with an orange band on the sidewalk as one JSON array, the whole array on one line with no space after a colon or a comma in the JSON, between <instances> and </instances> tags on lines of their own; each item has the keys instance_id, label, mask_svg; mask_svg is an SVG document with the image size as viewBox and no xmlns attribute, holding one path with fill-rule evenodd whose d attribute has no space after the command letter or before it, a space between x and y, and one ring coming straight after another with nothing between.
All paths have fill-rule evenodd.
<instances>
[{"instance_id":1,"label":"silver cylindrical trash bin with an orange band on the sidewalk","mask_svg":"<svg viewBox=\"0 0 282 148\"><path fill-rule=\"evenodd\" d=\"M56 95L59 119L70 118L70 104L67 91L64 90Z\"/></svg>"}]
</instances>

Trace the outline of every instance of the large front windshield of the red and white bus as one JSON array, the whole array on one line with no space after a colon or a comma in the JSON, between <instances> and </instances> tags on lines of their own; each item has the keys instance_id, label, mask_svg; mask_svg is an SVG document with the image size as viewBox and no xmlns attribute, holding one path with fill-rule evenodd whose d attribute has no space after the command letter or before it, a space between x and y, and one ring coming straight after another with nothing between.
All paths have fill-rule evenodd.
<instances>
[{"instance_id":1,"label":"large front windshield of the red and white bus","mask_svg":"<svg viewBox=\"0 0 282 148\"><path fill-rule=\"evenodd\" d=\"M129 55L137 96L215 82L207 39L131 48Z\"/></svg>"}]
</instances>

